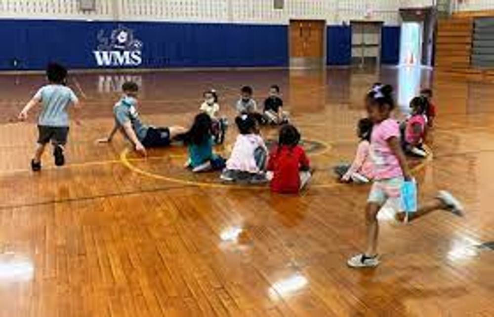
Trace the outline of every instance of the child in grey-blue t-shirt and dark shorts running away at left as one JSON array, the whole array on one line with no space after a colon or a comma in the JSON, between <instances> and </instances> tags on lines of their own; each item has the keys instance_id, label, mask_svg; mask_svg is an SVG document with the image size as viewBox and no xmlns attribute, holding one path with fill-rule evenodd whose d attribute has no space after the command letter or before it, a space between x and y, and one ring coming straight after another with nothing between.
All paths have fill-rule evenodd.
<instances>
[{"instance_id":1,"label":"child in grey-blue t-shirt and dark shorts running away at left","mask_svg":"<svg viewBox=\"0 0 494 317\"><path fill-rule=\"evenodd\" d=\"M34 172L41 171L41 156L46 144L51 141L55 165L65 164L65 144L69 135L69 106L79 111L79 99L72 89L66 87L67 70L59 64L49 64L46 76L49 84L41 87L29 103L19 114L19 120L25 121L29 111L41 104L41 113L38 118L38 146L34 158L31 160L31 169ZM80 124L76 118L76 123Z\"/></svg>"}]
</instances>

